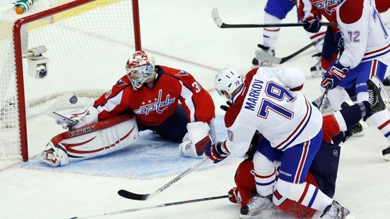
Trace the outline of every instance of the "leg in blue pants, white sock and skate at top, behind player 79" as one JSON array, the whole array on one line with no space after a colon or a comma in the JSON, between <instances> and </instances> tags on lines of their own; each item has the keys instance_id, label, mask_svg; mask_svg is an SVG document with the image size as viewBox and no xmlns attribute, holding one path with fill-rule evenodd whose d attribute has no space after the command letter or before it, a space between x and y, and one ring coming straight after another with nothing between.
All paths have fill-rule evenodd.
<instances>
[{"instance_id":1,"label":"leg in blue pants, white sock and skate at top, behind player 79","mask_svg":"<svg viewBox=\"0 0 390 219\"><path fill-rule=\"evenodd\" d=\"M290 0L268 0L265 5L264 23L279 24L284 19L287 13L294 7L294 3ZM263 44L258 44L258 47L266 51L271 56L275 56L275 46L279 38L279 27L267 27L263 29ZM265 60L261 60L258 56L252 60L253 67L270 66Z\"/></svg>"}]
</instances>

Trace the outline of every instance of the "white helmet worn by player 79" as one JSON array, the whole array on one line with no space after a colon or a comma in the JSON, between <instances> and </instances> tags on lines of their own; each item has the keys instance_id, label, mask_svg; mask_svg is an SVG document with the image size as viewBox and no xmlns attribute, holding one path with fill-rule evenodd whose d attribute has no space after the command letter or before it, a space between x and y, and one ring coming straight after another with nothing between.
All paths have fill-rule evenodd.
<instances>
[{"instance_id":1,"label":"white helmet worn by player 79","mask_svg":"<svg viewBox=\"0 0 390 219\"><path fill-rule=\"evenodd\" d=\"M217 89L217 92L228 100L232 99L233 91L240 87L242 83L244 83L244 81L242 81L240 74L230 67L225 67L215 76L215 88ZM227 92L230 97L226 97L222 90Z\"/></svg>"}]
</instances>

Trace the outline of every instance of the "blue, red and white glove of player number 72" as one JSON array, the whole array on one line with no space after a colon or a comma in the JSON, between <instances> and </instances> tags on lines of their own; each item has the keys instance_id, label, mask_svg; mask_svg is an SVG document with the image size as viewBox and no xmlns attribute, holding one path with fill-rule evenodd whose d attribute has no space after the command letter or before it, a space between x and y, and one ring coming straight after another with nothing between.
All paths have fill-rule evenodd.
<instances>
[{"instance_id":1,"label":"blue, red and white glove of player number 72","mask_svg":"<svg viewBox=\"0 0 390 219\"><path fill-rule=\"evenodd\" d=\"M321 81L321 86L329 89L336 88L336 86L343 81L345 76L347 76L349 70L348 67L341 65L341 63L336 60L327 73L325 73L325 76Z\"/></svg>"}]
</instances>

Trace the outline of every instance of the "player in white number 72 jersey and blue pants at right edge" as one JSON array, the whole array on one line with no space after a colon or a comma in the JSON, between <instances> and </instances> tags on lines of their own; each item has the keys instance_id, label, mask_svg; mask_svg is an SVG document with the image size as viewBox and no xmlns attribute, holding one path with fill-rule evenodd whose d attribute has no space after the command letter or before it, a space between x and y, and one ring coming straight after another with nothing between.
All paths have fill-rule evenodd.
<instances>
[{"instance_id":1,"label":"player in white number 72 jersey and blue pants at right edge","mask_svg":"<svg viewBox=\"0 0 390 219\"><path fill-rule=\"evenodd\" d=\"M343 40L343 53L329 67L321 82L329 90L335 111L349 99L345 89L355 89L357 102L368 100L366 81L377 76L381 81L390 65L390 30L382 21L373 0L338 1L335 8ZM390 112L379 112L368 121L390 141ZM390 151L389 151L390 152ZM385 149L382 154L390 159Z\"/></svg>"}]
</instances>

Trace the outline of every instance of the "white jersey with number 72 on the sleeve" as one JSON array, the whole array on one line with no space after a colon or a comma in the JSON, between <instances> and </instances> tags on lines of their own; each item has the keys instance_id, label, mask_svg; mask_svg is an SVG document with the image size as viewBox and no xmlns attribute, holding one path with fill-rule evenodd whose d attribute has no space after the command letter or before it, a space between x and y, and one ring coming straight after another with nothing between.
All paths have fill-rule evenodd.
<instances>
[{"instance_id":1,"label":"white jersey with number 72 on the sleeve","mask_svg":"<svg viewBox=\"0 0 390 219\"><path fill-rule=\"evenodd\" d=\"M354 68L359 63L378 59L389 65L390 30L375 9L373 0L344 0L336 7L344 51L339 61Z\"/></svg>"}]
</instances>

